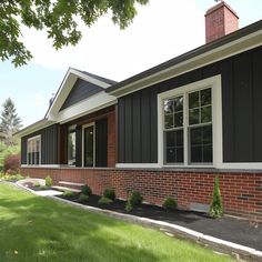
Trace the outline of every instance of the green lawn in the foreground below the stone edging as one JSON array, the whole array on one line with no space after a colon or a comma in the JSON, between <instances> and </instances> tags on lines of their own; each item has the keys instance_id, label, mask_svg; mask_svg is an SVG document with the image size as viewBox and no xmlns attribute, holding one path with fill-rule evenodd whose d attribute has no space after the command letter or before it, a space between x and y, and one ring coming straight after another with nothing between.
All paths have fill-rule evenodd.
<instances>
[{"instance_id":1,"label":"green lawn in the foreground below the stone edging","mask_svg":"<svg viewBox=\"0 0 262 262\"><path fill-rule=\"evenodd\" d=\"M0 261L232 261L194 243L0 184Z\"/></svg>"}]
</instances>

